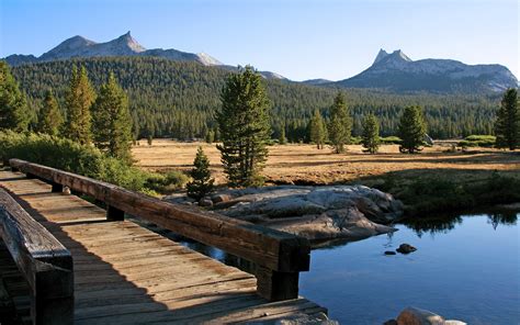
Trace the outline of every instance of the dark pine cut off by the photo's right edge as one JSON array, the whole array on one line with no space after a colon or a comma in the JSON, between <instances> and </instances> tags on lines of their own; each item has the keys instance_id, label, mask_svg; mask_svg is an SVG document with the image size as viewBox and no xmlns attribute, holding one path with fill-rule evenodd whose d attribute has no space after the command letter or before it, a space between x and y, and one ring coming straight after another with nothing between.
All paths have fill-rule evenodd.
<instances>
[{"instance_id":1,"label":"dark pine cut off by the photo's right edge","mask_svg":"<svg viewBox=\"0 0 520 325\"><path fill-rule=\"evenodd\" d=\"M495 122L497 148L515 150L520 146L520 108L518 92L510 88L504 93Z\"/></svg>"}]
</instances>

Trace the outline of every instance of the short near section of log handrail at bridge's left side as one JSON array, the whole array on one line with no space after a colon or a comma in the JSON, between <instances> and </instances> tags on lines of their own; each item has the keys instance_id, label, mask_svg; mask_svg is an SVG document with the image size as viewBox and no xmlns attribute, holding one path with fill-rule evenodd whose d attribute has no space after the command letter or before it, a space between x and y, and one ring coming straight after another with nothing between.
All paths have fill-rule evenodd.
<instances>
[{"instance_id":1,"label":"short near section of log handrail at bridge's left side","mask_svg":"<svg viewBox=\"0 0 520 325\"><path fill-rule=\"evenodd\" d=\"M31 287L33 324L72 324L70 251L1 188L0 237Z\"/></svg>"}]
</instances>

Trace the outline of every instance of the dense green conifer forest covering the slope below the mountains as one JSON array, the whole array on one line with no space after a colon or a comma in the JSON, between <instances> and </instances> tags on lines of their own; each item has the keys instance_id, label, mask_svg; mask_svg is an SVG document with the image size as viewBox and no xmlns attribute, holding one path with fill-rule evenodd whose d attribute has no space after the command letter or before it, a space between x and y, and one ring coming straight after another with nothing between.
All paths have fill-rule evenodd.
<instances>
[{"instance_id":1,"label":"dense green conifer forest covering the slope below the mountains","mask_svg":"<svg viewBox=\"0 0 520 325\"><path fill-rule=\"evenodd\" d=\"M72 66L84 66L92 87L100 89L113 71L129 100L133 137L173 137L178 139L218 138L216 112L228 71L196 63L154 57L88 58L30 64L14 67L13 76L26 94L29 127L36 128L38 110L47 89L53 88L60 108L65 107ZM284 80L265 80L272 101L271 138L309 142L308 125L317 110L329 119L336 88L308 86ZM381 90L342 90L352 114L352 134L363 132L363 116L373 113L383 136L395 135L399 117L408 105L421 105L433 138L493 134L496 107L494 94L396 94ZM63 110L63 109L61 109ZM63 112L64 115L66 112Z\"/></svg>"}]
</instances>

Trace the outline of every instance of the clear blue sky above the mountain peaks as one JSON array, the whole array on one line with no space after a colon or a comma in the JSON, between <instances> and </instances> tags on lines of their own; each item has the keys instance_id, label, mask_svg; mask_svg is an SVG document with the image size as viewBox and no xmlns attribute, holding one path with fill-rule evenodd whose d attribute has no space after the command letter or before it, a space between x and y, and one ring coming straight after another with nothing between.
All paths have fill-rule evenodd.
<instances>
[{"instance_id":1,"label":"clear blue sky above the mountain peaks","mask_svg":"<svg viewBox=\"0 0 520 325\"><path fill-rule=\"evenodd\" d=\"M344 79L380 48L501 64L519 77L517 0L0 0L0 57L127 31L146 48L205 52L293 80Z\"/></svg>"}]
</instances>

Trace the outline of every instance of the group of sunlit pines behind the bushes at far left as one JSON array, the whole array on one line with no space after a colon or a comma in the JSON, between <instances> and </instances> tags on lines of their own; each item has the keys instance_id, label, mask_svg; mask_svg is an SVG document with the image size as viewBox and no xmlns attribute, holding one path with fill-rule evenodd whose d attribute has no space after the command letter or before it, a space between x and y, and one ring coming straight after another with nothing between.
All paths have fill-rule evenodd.
<instances>
[{"instance_id":1,"label":"group of sunlit pines behind the bushes at far left","mask_svg":"<svg viewBox=\"0 0 520 325\"><path fill-rule=\"evenodd\" d=\"M94 144L109 156L132 162L132 117L128 99L114 74L94 90L87 69L74 66L63 109L53 90L45 92L33 131L71 139L80 145ZM0 61L0 131L30 128L31 109L5 63Z\"/></svg>"}]
</instances>

